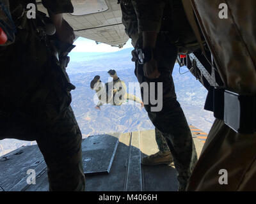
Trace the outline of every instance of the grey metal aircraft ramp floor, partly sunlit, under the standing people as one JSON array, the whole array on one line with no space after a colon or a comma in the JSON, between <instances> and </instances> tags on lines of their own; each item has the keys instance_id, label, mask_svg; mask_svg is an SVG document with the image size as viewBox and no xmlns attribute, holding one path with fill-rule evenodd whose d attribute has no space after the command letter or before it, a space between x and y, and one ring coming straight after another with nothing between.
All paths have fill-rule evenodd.
<instances>
[{"instance_id":1,"label":"grey metal aircraft ramp floor, partly sunlit, under the standing people","mask_svg":"<svg viewBox=\"0 0 256 204\"><path fill-rule=\"evenodd\" d=\"M191 126L191 129L196 129ZM198 155L204 143L193 134ZM83 140L86 191L177 191L173 164L142 166L141 158L158 151L154 130L90 136ZM48 191L47 167L37 145L0 157L0 191ZM29 185L27 171L36 172Z\"/></svg>"}]
</instances>

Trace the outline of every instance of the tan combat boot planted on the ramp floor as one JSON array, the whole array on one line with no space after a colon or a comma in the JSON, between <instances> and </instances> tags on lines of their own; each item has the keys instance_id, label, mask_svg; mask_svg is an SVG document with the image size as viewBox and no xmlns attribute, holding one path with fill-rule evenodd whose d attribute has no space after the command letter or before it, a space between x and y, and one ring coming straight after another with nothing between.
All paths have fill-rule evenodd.
<instances>
[{"instance_id":1,"label":"tan combat boot planted on the ramp floor","mask_svg":"<svg viewBox=\"0 0 256 204\"><path fill-rule=\"evenodd\" d=\"M170 164L173 162L171 152L157 152L156 154L152 154L147 157L143 157L141 159L141 164L154 166L159 164Z\"/></svg>"}]
</instances>

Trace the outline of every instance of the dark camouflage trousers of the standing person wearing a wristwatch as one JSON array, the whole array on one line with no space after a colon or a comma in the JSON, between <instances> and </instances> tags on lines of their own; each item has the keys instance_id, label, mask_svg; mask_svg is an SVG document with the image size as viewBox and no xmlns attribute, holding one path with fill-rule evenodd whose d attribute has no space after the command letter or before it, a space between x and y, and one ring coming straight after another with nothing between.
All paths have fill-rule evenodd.
<instances>
[{"instance_id":1,"label":"dark camouflage trousers of the standing person wearing a wristwatch","mask_svg":"<svg viewBox=\"0 0 256 204\"><path fill-rule=\"evenodd\" d=\"M177 48L168 41L166 36L159 36L156 45L156 60L161 76L157 79L149 79L144 76L143 65L136 62L135 74L140 84L146 82L147 89L141 88L141 96L150 94L157 96L157 83L163 83L163 108L159 112L152 112L151 107L156 106L149 103L145 104L145 109L148 112L148 117L159 131L168 144L175 168L178 171L178 180L180 189L185 190L188 184L191 172L196 164L197 155L191 131L188 126L186 117L180 107L175 94L175 87L172 78L172 71L177 59ZM154 83L154 88L150 87L150 83ZM144 101L143 101L144 102ZM159 150L167 150L164 140L157 134L156 140L159 145ZM159 140L160 138L160 140Z\"/></svg>"}]
</instances>

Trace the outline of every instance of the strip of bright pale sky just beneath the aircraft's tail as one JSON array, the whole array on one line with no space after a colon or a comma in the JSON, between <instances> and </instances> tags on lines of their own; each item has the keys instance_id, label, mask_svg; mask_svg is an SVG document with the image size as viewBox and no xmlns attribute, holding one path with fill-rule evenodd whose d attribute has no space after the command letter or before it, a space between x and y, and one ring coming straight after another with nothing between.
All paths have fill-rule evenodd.
<instances>
[{"instance_id":1,"label":"strip of bright pale sky just beneath the aircraft's tail","mask_svg":"<svg viewBox=\"0 0 256 204\"><path fill-rule=\"evenodd\" d=\"M72 52L117 52L125 48L132 47L131 40L127 41L123 48L118 48L111 47L110 45L104 43L97 45L95 41L81 37L74 42L74 45L76 45L76 47L72 50Z\"/></svg>"}]
</instances>

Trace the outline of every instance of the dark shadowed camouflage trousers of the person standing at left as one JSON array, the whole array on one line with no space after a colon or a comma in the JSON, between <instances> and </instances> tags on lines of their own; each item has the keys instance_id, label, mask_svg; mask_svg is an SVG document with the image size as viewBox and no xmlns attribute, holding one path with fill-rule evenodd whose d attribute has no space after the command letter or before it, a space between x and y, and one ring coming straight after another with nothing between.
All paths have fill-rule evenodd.
<instances>
[{"instance_id":1,"label":"dark shadowed camouflage trousers of the person standing at left","mask_svg":"<svg viewBox=\"0 0 256 204\"><path fill-rule=\"evenodd\" d=\"M0 47L0 140L36 140L50 191L84 191L82 135L61 68L44 41L20 30Z\"/></svg>"}]
</instances>

